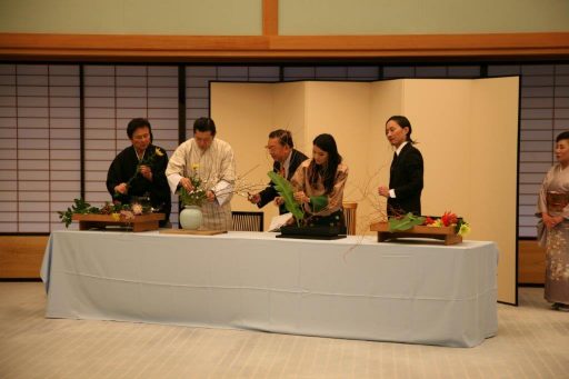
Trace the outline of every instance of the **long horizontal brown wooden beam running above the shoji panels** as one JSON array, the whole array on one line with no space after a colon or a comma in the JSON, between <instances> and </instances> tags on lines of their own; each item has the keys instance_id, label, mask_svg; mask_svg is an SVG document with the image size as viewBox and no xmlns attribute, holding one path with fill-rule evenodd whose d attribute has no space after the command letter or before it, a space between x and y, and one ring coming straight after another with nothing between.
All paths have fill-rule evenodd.
<instances>
[{"instance_id":1,"label":"long horizontal brown wooden beam running above the shoji panels","mask_svg":"<svg viewBox=\"0 0 569 379\"><path fill-rule=\"evenodd\" d=\"M0 33L0 60L359 58L569 59L569 32L426 36L102 36Z\"/></svg>"}]
</instances>

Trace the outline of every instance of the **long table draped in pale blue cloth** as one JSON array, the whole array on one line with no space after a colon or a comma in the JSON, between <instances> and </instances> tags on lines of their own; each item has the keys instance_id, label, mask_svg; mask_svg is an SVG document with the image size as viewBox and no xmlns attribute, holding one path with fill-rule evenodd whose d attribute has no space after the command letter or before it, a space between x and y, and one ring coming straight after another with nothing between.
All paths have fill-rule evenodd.
<instances>
[{"instance_id":1,"label":"long table draped in pale blue cloth","mask_svg":"<svg viewBox=\"0 0 569 379\"><path fill-rule=\"evenodd\" d=\"M47 317L452 347L495 336L493 242L54 231Z\"/></svg>"}]
</instances>

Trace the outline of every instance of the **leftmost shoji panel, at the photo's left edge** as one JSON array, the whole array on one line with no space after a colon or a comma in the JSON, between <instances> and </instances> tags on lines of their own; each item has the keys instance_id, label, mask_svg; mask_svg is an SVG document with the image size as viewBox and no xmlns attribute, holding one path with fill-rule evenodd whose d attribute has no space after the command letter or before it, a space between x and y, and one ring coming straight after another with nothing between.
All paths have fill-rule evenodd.
<instances>
[{"instance_id":1,"label":"leftmost shoji panel, at the photo's left edge","mask_svg":"<svg viewBox=\"0 0 569 379\"><path fill-rule=\"evenodd\" d=\"M0 232L59 229L80 196L79 66L0 64Z\"/></svg>"}]
</instances>

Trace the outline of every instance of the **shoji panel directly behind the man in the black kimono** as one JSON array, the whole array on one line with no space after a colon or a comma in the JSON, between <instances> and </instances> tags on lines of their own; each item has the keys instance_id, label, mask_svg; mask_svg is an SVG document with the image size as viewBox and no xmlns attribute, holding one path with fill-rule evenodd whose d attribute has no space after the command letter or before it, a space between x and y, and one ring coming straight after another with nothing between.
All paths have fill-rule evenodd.
<instances>
[{"instance_id":1,"label":"shoji panel directly behind the man in the black kimono","mask_svg":"<svg viewBox=\"0 0 569 379\"><path fill-rule=\"evenodd\" d=\"M99 206L111 200L107 171L117 153L130 146L127 124L137 117L149 119L153 143L170 157L178 146L178 67L84 67L87 201Z\"/></svg>"}]
</instances>

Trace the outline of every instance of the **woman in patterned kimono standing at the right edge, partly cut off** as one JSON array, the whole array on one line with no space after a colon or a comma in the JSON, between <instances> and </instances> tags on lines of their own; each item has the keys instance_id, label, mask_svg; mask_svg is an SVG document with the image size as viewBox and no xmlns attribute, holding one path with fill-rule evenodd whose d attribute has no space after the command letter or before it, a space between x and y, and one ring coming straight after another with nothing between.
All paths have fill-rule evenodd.
<instances>
[{"instance_id":1,"label":"woman in patterned kimono standing at the right edge, partly cut off","mask_svg":"<svg viewBox=\"0 0 569 379\"><path fill-rule=\"evenodd\" d=\"M539 192L538 240L546 247L545 298L569 311L569 131L556 138L556 158ZM541 226L540 226L541 223Z\"/></svg>"}]
</instances>

